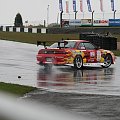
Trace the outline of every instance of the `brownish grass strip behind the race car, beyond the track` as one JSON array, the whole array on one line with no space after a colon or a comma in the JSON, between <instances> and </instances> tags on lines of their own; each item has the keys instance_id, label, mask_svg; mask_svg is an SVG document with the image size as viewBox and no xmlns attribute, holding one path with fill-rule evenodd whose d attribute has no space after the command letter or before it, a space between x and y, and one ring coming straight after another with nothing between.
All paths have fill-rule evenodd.
<instances>
[{"instance_id":1,"label":"brownish grass strip behind the race car, beyond the track","mask_svg":"<svg viewBox=\"0 0 120 120\"><path fill-rule=\"evenodd\" d=\"M59 41L61 39L79 39L79 34L40 34L24 32L0 32L0 39L36 44L37 41Z\"/></svg>"}]
</instances>

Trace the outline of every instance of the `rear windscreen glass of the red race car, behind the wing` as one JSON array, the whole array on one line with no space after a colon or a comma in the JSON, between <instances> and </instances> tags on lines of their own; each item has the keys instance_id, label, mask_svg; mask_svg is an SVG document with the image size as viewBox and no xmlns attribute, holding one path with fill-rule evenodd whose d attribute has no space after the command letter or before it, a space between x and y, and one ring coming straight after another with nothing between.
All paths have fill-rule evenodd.
<instances>
[{"instance_id":1,"label":"rear windscreen glass of the red race car, behind the wing","mask_svg":"<svg viewBox=\"0 0 120 120\"><path fill-rule=\"evenodd\" d=\"M75 41L67 41L67 43L60 43L60 46L58 46L58 43L54 43L50 46L50 48L64 48L64 44L65 44L65 48L74 48L75 47Z\"/></svg>"}]
</instances>

